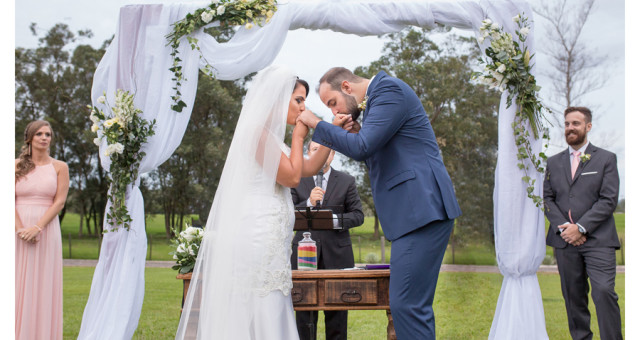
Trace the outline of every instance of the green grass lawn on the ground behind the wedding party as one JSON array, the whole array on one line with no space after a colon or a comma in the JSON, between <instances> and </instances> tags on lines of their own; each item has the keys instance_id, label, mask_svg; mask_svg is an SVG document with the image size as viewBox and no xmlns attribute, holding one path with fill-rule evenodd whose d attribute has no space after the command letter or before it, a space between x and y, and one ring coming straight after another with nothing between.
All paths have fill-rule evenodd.
<instances>
[{"instance_id":1,"label":"green grass lawn on the ground behind the wedding party","mask_svg":"<svg viewBox=\"0 0 640 340\"><path fill-rule=\"evenodd\" d=\"M64 338L76 339L86 304L94 268L64 268ZM138 329L133 339L173 339L180 319L182 282L176 272L166 268L147 268L145 299ZM616 277L620 297L622 330L625 316L625 275ZM564 301L557 274L538 274L550 339L570 339ZM502 276L490 273L441 273L434 303L438 339L486 339L500 293ZM598 339L598 326L590 302L592 330ZM323 313L318 322L318 339L324 337ZM386 339L384 311L350 311L349 338Z\"/></svg>"}]
</instances>

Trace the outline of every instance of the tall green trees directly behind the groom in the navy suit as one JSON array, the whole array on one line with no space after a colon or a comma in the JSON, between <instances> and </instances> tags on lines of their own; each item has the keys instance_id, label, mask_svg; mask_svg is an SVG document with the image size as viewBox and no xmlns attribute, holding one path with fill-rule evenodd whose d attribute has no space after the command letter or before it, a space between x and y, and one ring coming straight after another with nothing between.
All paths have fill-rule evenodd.
<instances>
[{"instance_id":1,"label":"tall green trees directly behind the groom in the navy suit","mask_svg":"<svg viewBox=\"0 0 640 340\"><path fill-rule=\"evenodd\" d=\"M452 237L455 249L469 242L491 242L499 97L469 81L475 66L471 61L480 53L474 40L453 34L444 35L440 44L431 40L446 31L413 28L386 35L382 57L355 73L370 78L385 70L420 97L462 209ZM366 175L357 177L360 188L368 186ZM370 197L368 190L360 189L363 203Z\"/></svg>"}]
</instances>

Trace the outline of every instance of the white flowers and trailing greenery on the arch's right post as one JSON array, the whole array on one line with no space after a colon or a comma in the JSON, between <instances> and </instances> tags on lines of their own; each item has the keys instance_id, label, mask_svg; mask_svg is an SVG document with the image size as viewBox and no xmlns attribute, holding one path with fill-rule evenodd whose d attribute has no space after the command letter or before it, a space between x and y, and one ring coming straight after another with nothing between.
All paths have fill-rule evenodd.
<instances>
[{"instance_id":1,"label":"white flowers and trailing greenery on the arch's right post","mask_svg":"<svg viewBox=\"0 0 640 340\"><path fill-rule=\"evenodd\" d=\"M547 156L544 152L535 154L528 138L531 131L535 139L542 137L545 140L545 148L547 147L549 135L547 128L543 126L543 119L546 120L544 111L551 111L542 105L538 98L540 86L536 85L536 79L531 74L530 60L533 56L525 46L530 31L528 19L523 13L513 17L513 21L518 25L515 31L516 41L497 23L490 19L482 21L478 41L482 44L488 39L491 43L485 50L487 58L480 59L481 65L485 66L484 71L474 73L474 78L501 92L508 89L507 108L511 107L515 99L517 110L511 126L518 150L518 168L525 172L522 180L527 183L527 196L537 207L542 208L544 201L533 193L535 179L528 175L529 165L526 160L533 164L535 171L544 173L543 163Z\"/></svg>"}]
</instances>

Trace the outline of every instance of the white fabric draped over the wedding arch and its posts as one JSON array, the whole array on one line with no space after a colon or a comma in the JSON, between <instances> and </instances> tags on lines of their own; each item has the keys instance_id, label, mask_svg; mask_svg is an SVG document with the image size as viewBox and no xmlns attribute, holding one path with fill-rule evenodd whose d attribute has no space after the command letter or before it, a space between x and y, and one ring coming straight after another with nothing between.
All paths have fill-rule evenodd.
<instances>
[{"instance_id":1,"label":"white fabric draped over the wedding arch and its posts","mask_svg":"<svg viewBox=\"0 0 640 340\"><path fill-rule=\"evenodd\" d=\"M140 173L162 164L180 144L195 98L198 68L203 66L198 52L192 51L185 41L180 49L186 78L181 92L187 107L181 113L173 112L170 98L173 75L168 70L172 59L165 36L173 22L207 4L122 7L115 38L96 70L94 103L103 91L110 98L117 88L130 90L135 92L136 105L144 111L144 117L157 120L156 135L144 149L147 155ZM240 28L226 43L218 43L202 31L194 36L199 39L202 53L214 67L216 77L232 80L270 65L287 32L293 29L329 29L364 36L397 32L407 25L428 28L439 23L477 31L481 21L490 18L513 31L511 18L522 12L533 17L526 2L512 1L280 1L268 25L251 30ZM533 53L533 29L528 40ZM503 94L499 110L494 191L496 255L504 281L489 338L548 339L536 277L545 253L544 215L526 197L511 130L515 106L506 108L506 95ZM535 153L541 150L541 143L533 145ZM101 154L105 147L100 147ZM102 166L108 170L108 158L102 157ZM531 172L529 175L536 178L536 192L541 195L542 176ZM110 232L103 239L83 315L81 339L128 339L137 327L144 296L146 255L143 199L137 186L130 191L127 206L133 217L131 231ZM106 221L105 225L110 228Z\"/></svg>"}]
</instances>

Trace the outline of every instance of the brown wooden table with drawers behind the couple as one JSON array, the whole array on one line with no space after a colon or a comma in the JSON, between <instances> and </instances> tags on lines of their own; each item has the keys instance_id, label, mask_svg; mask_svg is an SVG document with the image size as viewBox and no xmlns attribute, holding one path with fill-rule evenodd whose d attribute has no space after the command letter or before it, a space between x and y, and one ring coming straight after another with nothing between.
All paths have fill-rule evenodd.
<instances>
[{"instance_id":1,"label":"brown wooden table with drawers behind the couple","mask_svg":"<svg viewBox=\"0 0 640 340\"><path fill-rule=\"evenodd\" d=\"M187 296L191 273L184 280L182 303ZM386 310L387 339L395 340L389 309L389 270L293 270L291 299L297 311Z\"/></svg>"}]
</instances>

